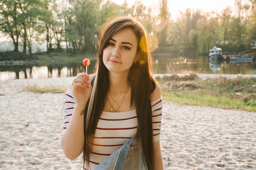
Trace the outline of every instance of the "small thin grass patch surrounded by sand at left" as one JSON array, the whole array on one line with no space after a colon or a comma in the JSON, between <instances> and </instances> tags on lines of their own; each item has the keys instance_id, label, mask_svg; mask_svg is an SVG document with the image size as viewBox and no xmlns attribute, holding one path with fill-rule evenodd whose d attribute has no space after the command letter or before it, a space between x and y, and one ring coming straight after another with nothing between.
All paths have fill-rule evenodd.
<instances>
[{"instance_id":1,"label":"small thin grass patch surrounded by sand at left","mask_svg":"<svg viewBox=\"0 0 256 170\"><path fill-rule=\"evenodd\" d=\"M27 86L23 89L24 91L34 92L34 93L64 93L65 88L63 87L39 87L39 86Z\"/></svg>"}]
</instances>

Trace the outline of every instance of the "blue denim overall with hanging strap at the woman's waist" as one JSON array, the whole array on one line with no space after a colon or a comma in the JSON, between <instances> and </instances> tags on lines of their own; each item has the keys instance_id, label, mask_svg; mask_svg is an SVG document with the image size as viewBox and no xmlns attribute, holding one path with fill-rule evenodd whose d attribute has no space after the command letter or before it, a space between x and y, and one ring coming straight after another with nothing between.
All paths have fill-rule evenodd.
<instances>
[{"instance_id":1,"label":"blue denim overall with hanging strap at the woman's waist","mask_svg":"<svg viewBox=\"0 0 256 170\"><path fill-rule=\"evenodd\" d=\"M104 159L94 170L146 170L140 136L136 133L121 148Z\"/></svg>"}]
</instances>

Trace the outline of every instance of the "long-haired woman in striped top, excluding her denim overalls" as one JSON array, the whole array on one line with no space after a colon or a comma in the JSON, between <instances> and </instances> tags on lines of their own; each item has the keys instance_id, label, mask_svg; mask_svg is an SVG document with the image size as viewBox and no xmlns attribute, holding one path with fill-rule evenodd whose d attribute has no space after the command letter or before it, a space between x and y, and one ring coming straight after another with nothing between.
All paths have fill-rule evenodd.
<instances>
[{"instance_id":1,"label":"long-haired woman in striped top, excluding her denim overalls","mask_svg":"<svg viewBox=\"0 0 256 170\"><path fill-rule=\"evenodd\" d=\"M61 147L67 158L83 153L83 168L97 169L138 132L140 143L130 146L138 160L130 159L128 152L123 170L163 170L161 89L153 77L147 33L140 22L118 17L104 26L96 73L79 73L63 103ZM138 167L141 157L144 166Z\"/></svg>"}]
</instances>

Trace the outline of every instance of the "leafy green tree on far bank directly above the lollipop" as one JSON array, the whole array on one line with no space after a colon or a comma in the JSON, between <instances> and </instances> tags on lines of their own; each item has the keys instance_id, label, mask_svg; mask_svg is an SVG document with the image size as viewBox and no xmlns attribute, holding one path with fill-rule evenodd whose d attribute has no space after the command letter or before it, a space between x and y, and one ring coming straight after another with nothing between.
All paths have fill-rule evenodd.
<instances>
[{"instance_id":1,"label":"leafy green tree on far bank directly above the lollipop","mask_svg":"<svg viewBox=\"0 0 256 170\"><path fill-rule=\"evenodd\" d=\"M95 50L95 35L102 0L69 0L65 13L65 31L68 46L74 53Z\"/></svg>"}]
</instances>

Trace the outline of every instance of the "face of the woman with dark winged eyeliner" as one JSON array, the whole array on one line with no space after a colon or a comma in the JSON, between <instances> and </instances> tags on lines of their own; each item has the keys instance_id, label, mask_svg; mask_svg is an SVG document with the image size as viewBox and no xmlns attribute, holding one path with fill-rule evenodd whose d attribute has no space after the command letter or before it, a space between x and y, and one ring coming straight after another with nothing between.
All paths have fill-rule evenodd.
<instances>
[{"instance_id":1,"label":"face of the woman with dark winged eyeliner","mask_svg":"<svg viewBox=\"0 0 256 170\"><path fill-rule=\"evenodd\" d=\"M131 29L122 29L115 33L103 50L103 63L108 71L129 72L137 57L138 41Z\"/></svg>"}]
</instances>

